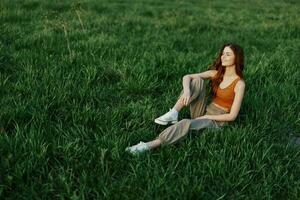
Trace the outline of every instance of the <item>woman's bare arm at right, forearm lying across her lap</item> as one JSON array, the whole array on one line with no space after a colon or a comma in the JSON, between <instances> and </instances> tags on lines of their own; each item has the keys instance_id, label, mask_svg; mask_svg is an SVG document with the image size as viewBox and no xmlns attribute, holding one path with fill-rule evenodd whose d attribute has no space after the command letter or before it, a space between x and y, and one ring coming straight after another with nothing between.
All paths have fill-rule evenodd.
<instances>
[{"instance_id":1,"label":"woman's bare arm at right, forearm lying across her lap","mask_svg":"<svg viewBox=\"0 0 300 200\"><path fill-rule=\"evenodd\" d=\"M234 88L235 96L228 114L222 115L203 115L197 119L212 119L216 121L234 121L239 114L241 104L245 93L245 82L240 80Z\"/></svg>"}]
</instances>

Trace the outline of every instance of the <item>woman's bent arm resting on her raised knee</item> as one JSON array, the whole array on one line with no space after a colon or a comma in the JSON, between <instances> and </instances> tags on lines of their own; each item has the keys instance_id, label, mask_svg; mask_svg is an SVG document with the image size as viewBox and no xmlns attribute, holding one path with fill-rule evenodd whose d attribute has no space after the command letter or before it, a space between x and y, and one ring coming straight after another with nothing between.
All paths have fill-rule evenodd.
<instances>
[{"instance_id":1,"label":"woman's bent arm resting on her raised knee","mask_svg":"<svg viewBox=\"0 0 300 200\"><path fill-rule=\"evenodd\" d=\"M187 74L182 78L182 85L183 85L183 95L181 98L181 102L183 105L187 105L189 102L189 98L191 96L190 92L190 82L192 79L203 78L209 79L214 77L217 74L217 70L208 70L198 74Z\"/></svg>"}]
</instances>

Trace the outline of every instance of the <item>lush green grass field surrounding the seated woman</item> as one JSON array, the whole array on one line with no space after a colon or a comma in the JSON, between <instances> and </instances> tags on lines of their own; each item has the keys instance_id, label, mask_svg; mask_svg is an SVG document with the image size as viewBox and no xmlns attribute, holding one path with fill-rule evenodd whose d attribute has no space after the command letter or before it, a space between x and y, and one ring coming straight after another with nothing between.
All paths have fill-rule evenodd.
<instances>
[{"instance_id":1,"label":"lush green grass field surrounding the seated woman","mask_svg":"<svg viewBox=\"0 0 300 200\"><path fill-rule=\"evenodd\" d=\"M0 2L0 199L300 199L300 2ZM221 132L141 156L225 42L246 94ZM180 119L188 118L188 109Z\"/></svg>"}]
</instances>

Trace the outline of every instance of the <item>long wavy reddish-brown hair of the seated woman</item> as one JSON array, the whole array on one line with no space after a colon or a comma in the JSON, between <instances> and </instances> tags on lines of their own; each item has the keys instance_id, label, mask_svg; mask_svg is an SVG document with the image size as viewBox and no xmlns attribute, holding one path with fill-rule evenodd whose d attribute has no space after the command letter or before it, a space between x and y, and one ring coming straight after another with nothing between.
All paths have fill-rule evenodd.
<instances>
[{"instance_id":1,"label":"long wavy reddish-brown hair of the seated woman","mask_svg":"<svg viewBox=\"0 0 300 200\"><path fill-rule=\"evenodd\" d=\"M225 47L229 47L235 55L235 70L237 75L244 79L243 69L244 69L244 50L241 46L233 43L227 43L222 46L220 49L218 57L215 59L213 64L209 66L210 70L217 70L217 74L210 80L210 93L213 97L216 96L217 89L220 83L223 81L223 76L225 73L226 67L222 66L221 56Z\"/></svg>"}]
</instances>

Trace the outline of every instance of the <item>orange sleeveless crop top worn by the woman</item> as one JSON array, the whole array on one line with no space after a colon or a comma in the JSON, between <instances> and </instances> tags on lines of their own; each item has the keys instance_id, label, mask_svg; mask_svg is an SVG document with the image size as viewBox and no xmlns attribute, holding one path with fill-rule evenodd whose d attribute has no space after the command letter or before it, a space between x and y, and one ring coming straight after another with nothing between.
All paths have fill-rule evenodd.
<instances>
[{"instance_id":1,"label":"orange sleeveless crop top worn by the woman","mask_svg":"<svg viewBox=\"0 0 300 200\"><path fill-rule=\"evenodd\" d=\"M240 79L241 78L238 77L237 79L232 81L232 83L229 86L227 86L224 89L221 89L219 86L217 89L216 96L213 98L213 102L215 104L227 108L228 111L230 111L235 96L234 87Z\"/></svg>"}]
</instances>

